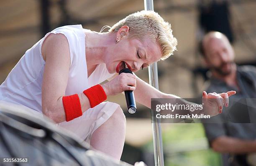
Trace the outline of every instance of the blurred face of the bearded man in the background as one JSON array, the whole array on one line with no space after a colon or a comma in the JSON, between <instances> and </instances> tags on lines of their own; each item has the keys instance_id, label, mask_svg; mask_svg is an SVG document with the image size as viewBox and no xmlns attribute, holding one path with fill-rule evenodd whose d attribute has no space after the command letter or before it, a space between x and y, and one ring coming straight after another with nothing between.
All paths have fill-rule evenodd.
<instances>
[{"instance_id":1,"label":"blurred face of the bearded man in the background","mask_svg":"<svg viewBox=\"0 0 256 166\"><path fill-rule=\"evenodd\" d=\"M204 50L206 62L210 69L224 76L232 72L234 69L234 50L227 39L212 37L205 41Z\"/></svg>"}]
</instances>

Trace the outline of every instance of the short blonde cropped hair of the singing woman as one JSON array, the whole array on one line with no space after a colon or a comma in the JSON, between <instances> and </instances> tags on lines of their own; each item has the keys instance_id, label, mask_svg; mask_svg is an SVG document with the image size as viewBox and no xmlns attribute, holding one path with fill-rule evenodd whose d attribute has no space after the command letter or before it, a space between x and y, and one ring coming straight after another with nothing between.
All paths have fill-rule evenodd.
<instances>
[{"instance_id":1,"label":"short blonde cropped hair of the singing woman","mask_svg":"<svg viewBox=\"0 0 256 166\"><path fill-rule=\"evenodd\" d=\"M168 58L176 50L177 39L172 35L171 25L164 21L157 12L145 10L135 12L117 22L109 31L119 30L125 25L130 28L131 38L156 41L161 47L162 60Z\"/></svg>"}]
</instances>

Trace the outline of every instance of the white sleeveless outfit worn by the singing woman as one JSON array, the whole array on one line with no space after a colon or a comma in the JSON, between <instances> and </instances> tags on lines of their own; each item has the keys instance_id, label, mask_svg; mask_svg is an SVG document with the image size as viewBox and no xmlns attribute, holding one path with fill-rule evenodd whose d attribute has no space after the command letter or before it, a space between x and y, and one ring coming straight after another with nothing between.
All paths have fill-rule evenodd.
<instances>
[{"instance_id":1,"label":"white sleeveless outfit worn by the singing woman","mask_svg":"<svg viewBox=\"0 0 256 166\"><path fill-rule=\"evenodd\" d=\"M41 55L41 47L46 37L51 33L64 34L69 43L71 62L67 89L65 92L66 96L82 93L85 89L88 89L93 85L100 84L106 79L112 77L114 74L110 74L108 72L105 64L98 64L95 71L92 72L89 78L87 78L84 30L85 29L82 28L82 25L68 25L58 27L47 33L45 37L26 51L25 55L21 57L20 61L9 73L3 84L0 85L0 100L14 104L21 104L42 113L41 85L45 61ZM83 116L78 119L70 122L63 122L60 126L64 126L71 131L76 129L77 134L82 136L82 139L85 139L87 136L92 134L89 133L89 130L90 132L95 131L95 129L91 129L92 125L94 124L94 126L99 127L99 124L103 124L113 114L113 111L115 111L118 106L119 105L115 103L104 102L93 109L85 111ZM107 107L109 111L108 116L105 115ZM101 113L102 109L103 113ZM100 119L100 122L88 120L88 117L95 121ZM83 121L84 128L82 128L81 125L79 126L79 123L76 123L78 121L79 123ZM69 124L72 125L69 126ZM77 128L74 124L81 128ZM78 129L85 129L85 131L79 131Z\"/></svg>"}]
</instances>

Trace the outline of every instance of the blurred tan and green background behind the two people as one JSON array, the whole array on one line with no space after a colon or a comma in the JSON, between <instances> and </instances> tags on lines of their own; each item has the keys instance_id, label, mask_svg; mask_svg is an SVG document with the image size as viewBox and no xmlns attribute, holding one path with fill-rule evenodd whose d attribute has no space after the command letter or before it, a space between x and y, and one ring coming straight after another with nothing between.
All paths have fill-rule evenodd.
<instances>
[{"instance_id":1,"label":"blurred tan and green background behind the two people","mask_svg":"<svg viewBox=\"0 0 256 166\"><path fill-rule=\"evenodd\" d=\"M183 98L201 97L207 69L199 52L205 32L227 35L237 64L256 64L255 0L154 0L154 10L172 25L178 40L174 55L158 63L159 89ZM1 0L0 83L20 57L56 27L82 24L99 32L133 12L143 0ZM105 31L106 32L106 31ZM148 82L148 70L136 73ZM123 108L127 134L122 160L154 165L150 109L138 104L127 114L122 94L110 97ZM209 149L201 124L162 124L166 166L219 166L220 155Z\"/></svg>"}]
</instances>

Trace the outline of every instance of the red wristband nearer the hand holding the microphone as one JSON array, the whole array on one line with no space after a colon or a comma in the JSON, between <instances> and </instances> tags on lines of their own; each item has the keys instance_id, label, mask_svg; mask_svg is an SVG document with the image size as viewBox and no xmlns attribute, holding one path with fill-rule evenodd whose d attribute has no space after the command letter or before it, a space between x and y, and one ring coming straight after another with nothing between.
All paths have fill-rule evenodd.
<instances>
[{"instance_id":1,"label":"red wristband nearer the hand holding the microphone","mask_svg":"<svg viewBox=\"0 0 256 166\"><path fill-rule=\"evenodd\" d=\"M84 90L84 94L88 97L91 108L97 106L107 99L107 95L105 94L105 91L100 84Z\"/></svg>"}]
</instances>

